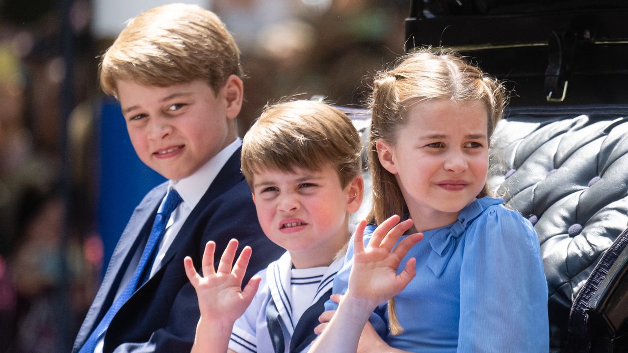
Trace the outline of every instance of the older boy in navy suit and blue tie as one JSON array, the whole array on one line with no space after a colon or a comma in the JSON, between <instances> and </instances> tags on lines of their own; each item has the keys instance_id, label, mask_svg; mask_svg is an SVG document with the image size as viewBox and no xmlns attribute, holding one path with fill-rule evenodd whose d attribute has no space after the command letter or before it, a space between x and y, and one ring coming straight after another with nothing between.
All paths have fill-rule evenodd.
<instances>
[{"instance_id":1,"label":"older boy in navy suit and blue tie","mask_svg":"<svg viewBox=\"0 0 628 353\"><path fill-rule=\"evenodd\" d=\"M278 258L240 171L239 52L198 6L159 6L129 21L102 57L140 160L168 179L134 210L72 352L184 352L199 309L183 258L200 263L237 237L257 249L251 274Z\"/></svg>"}]
</instances>

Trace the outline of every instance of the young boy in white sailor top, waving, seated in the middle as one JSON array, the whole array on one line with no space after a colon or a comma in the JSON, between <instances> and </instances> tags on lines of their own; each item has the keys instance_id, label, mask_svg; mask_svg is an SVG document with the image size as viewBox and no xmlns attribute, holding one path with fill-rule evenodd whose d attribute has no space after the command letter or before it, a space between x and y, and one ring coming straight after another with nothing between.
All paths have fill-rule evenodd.
<instances>
[{"instance_id":1,"label":"young boy in white sailor top, waving, seated in the middle","mask_svg":"<svg viewBox=\"0 0 628 353\"><path fill-rule=\"evenodd\" d=\"M284 102L261 114L244 136L242 172L264 233L286 253L244 290L251 247L234 264L232 239L215 269L208 242L202 274L185 259L201 313L192 352L309 349L349 241L349 215L362 202L360 149L350 119L323 102Z\"/></svg>"}]
</instances>

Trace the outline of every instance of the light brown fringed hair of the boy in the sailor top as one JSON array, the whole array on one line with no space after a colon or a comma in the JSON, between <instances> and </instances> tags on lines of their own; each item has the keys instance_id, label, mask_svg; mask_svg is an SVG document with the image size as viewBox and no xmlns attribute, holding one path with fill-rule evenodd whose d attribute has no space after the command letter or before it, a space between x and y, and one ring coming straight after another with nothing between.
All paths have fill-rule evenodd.
<instances>
[{"instance_id":1,"label":"light brown fringed hair of the boy in the sailor top","mask_svg":"<svg viewBox=\"0 0 628 353\"><path fill-rule=\"evenodd\" d=\"M264 109L242 141L242 173L252 189L264 170L320 170L331 163L340 185L360 175L360 136L349 117L323 102L293 100Z\"/></svg>"}]
</instances>

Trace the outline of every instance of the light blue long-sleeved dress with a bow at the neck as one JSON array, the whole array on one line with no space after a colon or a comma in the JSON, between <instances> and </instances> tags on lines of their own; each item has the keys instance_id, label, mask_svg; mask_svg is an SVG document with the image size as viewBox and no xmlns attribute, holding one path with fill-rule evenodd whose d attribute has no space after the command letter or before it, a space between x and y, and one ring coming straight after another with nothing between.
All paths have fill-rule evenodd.
<instances>
[{"instance_id":1,"label":"light blue long-sleeved dress with a bow at the neck","mask_svg":"<svg viewBox=\"0 0 628 353\"><path fill-rule=\"evenodd\" d=\"M388 332L389 345L421 353L548 352L548 291L538 237L503 202L477 199L456 222L423 232L399 266L416 258L416 277L395 296L404 332ZM374 229L367 227L365 244ZM349 244L334 293L347 290L354 254ZM387 332L387 319L383 303L370 321Z\"/></svg>"}]
</instances>

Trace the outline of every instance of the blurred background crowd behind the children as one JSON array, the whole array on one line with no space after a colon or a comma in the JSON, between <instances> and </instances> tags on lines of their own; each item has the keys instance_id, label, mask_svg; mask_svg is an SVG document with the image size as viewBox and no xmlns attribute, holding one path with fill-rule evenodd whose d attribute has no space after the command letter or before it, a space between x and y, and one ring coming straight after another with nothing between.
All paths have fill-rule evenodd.
<instances>
[{"instance_id":1,"label":"blurred background crowd behind the children","mask_svg":"<svg viewBox=\"0 0 628 353\"><path fill-rule=\"evenodd\" d=\"M119 112L99 90L99 55L124 19L163 3L0 0L0 352L70 350L121 232L106 225L126 224L139 202L114 195L129 206L102 212L116 208L103 202L116 190L104 171L135 176L120 156L104 163L113 124L104 107ZM219 14L241 48L241 134L281 97L362 106L372 73L403 53L409 11L409 0L195 3ZM108 32L96 25L106 8L122 16ZM144 191L159 182L150 180Z\"/></svg>"}]
</instances>

